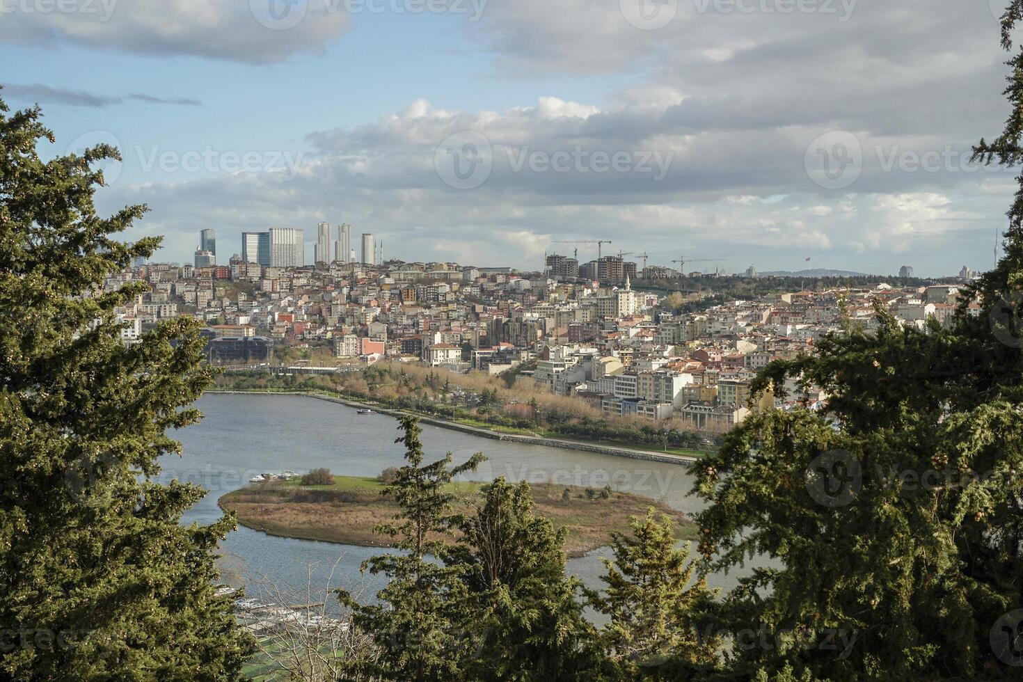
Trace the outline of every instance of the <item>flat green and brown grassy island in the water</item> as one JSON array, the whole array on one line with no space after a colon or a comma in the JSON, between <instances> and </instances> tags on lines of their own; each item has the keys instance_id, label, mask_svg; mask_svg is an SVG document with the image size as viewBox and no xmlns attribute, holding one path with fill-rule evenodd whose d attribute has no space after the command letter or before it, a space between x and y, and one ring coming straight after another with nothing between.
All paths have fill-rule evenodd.
<instances>
[{"instance_id":1,"label":"flat green and brown grassy island in the water","mask_svg":"<svg viewBox=\"0 0 1023 682\"><path fill-rule=\"evenodd\" d=\"M470 508L482 485L451 484L457 510ZM228 493L220 498L220 506L235 512L242 526L269 535L386 547L388 539L373 528L390 521L398 507L381 494L384 486L376 479L356 476L333 476L332 485L323 486L274 481ZM613 532L627 533L629 517L642 516L650 507L675 520L679 539L696 537L684 514L640 495L552 484L533 485L532 495L538 514L568 529L569 556L609 544Z\"/></svg>"}]
</instances>

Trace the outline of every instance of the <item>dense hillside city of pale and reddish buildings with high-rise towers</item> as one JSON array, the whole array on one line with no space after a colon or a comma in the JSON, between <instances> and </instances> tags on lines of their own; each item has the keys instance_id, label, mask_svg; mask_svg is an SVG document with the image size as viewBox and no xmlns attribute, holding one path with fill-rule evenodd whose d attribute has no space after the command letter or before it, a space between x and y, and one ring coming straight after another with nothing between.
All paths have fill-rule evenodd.
<instances>
[{"instance_id":1,"label":"dense hillside city of pale and reddish buildings with high-rise towers","mask_svg":"<svg viewBox=\"0 0 1023 682\"><path fill-rule=\"evenodd\" d=\"M582 265L550 255L542 272L520 272L382 262L370 234L362 235L360 259L348 225L339 226L332 243L328 224L319 226L318 236L314 266L303 264L302 230L243 233L242 254L228 265L217 265L215 232L204 230L192 265L140 262L108 277L108 290L133 281L151 288L119 309L124 340L132 343L162 319L194 316L208 325L207 358L219 366L323 374L387 360L514 372L605 415L676 419L685 429L720 435L751 409L825 404L827 396L812 387L785 398L767 392L751 404L751 383L772 360L812 353L814 343L843 322L876 329L874 302L904 325L944 324L961 288L882 282L780 290L720 305L700 305L706 292L694 292L684 300L700 310L685 313L665 306L663 292L642 290L650 281L681 281L677 270L637 269L621 255ZM900 275L911 276L911 268ZM960 273L973 276L967 268ZM969 310L980 309L971 303ZM329 360L288 365L286 349L309 347L326 349L319 357Z\"/></svg>"}]
</instances>

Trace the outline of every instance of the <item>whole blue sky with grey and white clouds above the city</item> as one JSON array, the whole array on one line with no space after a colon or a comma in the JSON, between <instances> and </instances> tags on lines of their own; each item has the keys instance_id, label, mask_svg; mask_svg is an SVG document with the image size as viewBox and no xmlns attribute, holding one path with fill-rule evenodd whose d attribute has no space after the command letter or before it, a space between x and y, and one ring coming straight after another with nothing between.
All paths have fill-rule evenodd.
<instances>
[{"instance_id":1,"label":"whole blue sky with grey and white clouds above the city","mask_svg":"<svg viewBox=\"0 0 1023 682\"><path fill-rule=\"evenodd\" d=\"M942 276L1016 186L969 163L1004 3L0 0L0 97L45 157L121 149L97 207L147 204L158 261L344 222L405 261Z\"/></svg>"}]
</instances>

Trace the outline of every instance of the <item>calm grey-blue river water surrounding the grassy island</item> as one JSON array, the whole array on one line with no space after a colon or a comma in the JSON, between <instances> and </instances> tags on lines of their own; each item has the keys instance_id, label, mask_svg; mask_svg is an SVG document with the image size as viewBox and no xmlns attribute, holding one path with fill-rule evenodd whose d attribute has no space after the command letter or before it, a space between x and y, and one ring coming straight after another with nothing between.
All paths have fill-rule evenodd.
<instances>
[{"instance_id":1,"label":"calm grey-blue river water surrounding the grassy island","mask_svg":"<svg viewBox=\"0 0 1023 682\"><path fill-rule=\"evenodd\" d=\"M163 460L161 480L190 481L210 490L186 522L211 524L221 516L217 500L266 471L298 472L327 467L336 474L374 476L388 466L400 466L403 447L394 443L398 422L387 415L359 415L352 408L301 396L207 395L197 403L206 418L173 436L184 454ZM690 497L693 474L685 466L648 462L560 448L505 443L422 425L422 443L430 460L454 455L462 462L475 452L489 457L473 480L504 475L509 481L551 481L560 484L632 492L663 501L687 514L703 502ZM371 596L380 587L360 574L360 563L380 548L354 547L307 540L276 538L239 528L222 543L226 582L283 589L315 585L321 595L329 574L332 586ZM607 548L569 560L569 571L591 587L602 585L602 556ZM311 580L310 580L311 576ZM738 576L711 577L712 587L729 589Z\"/></svg>"}]
</instances>

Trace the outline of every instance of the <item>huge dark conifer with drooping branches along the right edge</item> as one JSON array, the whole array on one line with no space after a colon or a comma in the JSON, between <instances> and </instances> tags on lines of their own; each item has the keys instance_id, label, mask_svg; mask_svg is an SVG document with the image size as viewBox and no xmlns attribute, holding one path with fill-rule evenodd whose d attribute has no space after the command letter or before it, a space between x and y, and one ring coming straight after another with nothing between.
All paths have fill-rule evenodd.
<instances>
[{"instance_id":1,"label":"huge dark conifer with drooping branches along the right edge","mask_svg":"<svg viewBox=\"0 0 1023 682\"><path fill-rule=\"evenodd\" d=\"M1023 0L1014 0L1006 49L1021 18ZM1015 166L1023 52L1009 64L1012 116L976 160ZM991 631L1023 608L1019 181L1005 257L962 292L950 325L903 327L877 303L877 332L850 326L756 381L756 392L773 387L776 396L790 378L820 387L829 414L752 415L698 466L697 492L711 502L698 518L710 566L758 553L780 564L755 571L726 599L732 631L766 633L735 651L733 679L1014 672Z\"/></svg>"}]
</instances>

